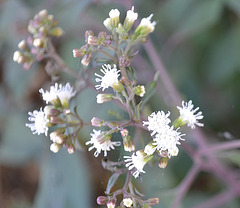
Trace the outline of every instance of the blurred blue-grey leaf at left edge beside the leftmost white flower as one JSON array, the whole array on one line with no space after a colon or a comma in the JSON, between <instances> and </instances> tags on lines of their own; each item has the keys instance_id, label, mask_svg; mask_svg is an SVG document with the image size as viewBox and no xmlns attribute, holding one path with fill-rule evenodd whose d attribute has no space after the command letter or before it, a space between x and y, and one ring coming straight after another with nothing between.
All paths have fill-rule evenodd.
<instances>
[{"instance_id":1,"label":"blurred blue-grey leaf at left edge beside the leftmost white flower","mask_svg":"<svg viewBox=\"0 0 240 208\"><path fill-rule=\"evenodd\" d=\"M0 144L0 163L21 166L38 157L42 152L43 139L35 136L25 126L27 116L8 113Z\"/></svg>"}]
</instances>

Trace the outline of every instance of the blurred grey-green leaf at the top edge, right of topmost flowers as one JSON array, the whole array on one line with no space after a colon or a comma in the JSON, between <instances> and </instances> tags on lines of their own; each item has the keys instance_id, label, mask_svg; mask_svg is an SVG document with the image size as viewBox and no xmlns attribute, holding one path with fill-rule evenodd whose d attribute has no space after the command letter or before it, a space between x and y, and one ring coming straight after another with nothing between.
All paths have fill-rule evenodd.
<instances>
[{"instance_id":1,"label":"blurred grey-green leaf at the top edge, right of topmost flowers","mask_svg":"<svg viewBox=\"0 0 240 208\"><path fill-rule=\"evenodd\" d=\"M213 26L221 14L222 0L195 1L178 25L177 31L184 34L193 34Z\"/></svg>"}]
</instances>

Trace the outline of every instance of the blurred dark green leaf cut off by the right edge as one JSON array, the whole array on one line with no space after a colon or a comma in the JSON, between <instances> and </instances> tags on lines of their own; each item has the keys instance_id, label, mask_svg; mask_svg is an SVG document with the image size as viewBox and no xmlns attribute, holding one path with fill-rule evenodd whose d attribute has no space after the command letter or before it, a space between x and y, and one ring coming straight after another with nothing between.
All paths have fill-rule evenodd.
<instances>
[{"instance_id":1,"label":"blurred dark green leaf cut off by the right edge","mask_svg":"<svg viewBox=\"0 0 240 208\"><path fill-rule=\"evenodd\" d=\"M207 68L211 81L222 83L240 67L240 27L227 32L209 52Z\"/></svg>"}]
</instances>

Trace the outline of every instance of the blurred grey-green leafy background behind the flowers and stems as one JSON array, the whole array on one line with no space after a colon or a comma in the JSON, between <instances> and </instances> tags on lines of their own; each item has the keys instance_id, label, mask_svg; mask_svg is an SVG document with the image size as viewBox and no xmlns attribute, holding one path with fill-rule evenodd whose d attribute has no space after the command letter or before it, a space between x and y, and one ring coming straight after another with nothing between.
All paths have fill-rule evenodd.
<instances>
[{"instance_id":1,"label":"blurred grey-green leafy background behind the flowers and stems","mask_svg":"<svg viewBox=\"0 0 240 208\"><path fill-rule=\"evenodd\" d=\"M18 42L27 36L28 21L47 9L65 31L63 37L54 40L58 52L78 70L82 66L72 57L72 49L83 45L85 31L105 30L102 22L112 8L118 8L124 18L132 5L140 18L154 14L157 25L150 38L183 98L192 99L203 111L209 142L238 138L239 0L0 0L0 207L97 207L95 199L104 194L110 173L102 169L100 159L95 160L92 152L51 153L48 140L33 136L25 127L28 111L43 105L38 89L50 78L44 64L24 71L12 61L12 55ZM139 51L133 65L138 68L140 82L148 83L154 69L146 51L142 47ZM69 80L64 76L61 79ZM156 93L150 101L153 110L167 109L160 95L164 92ZM88 93L82 96L84 99L77 103L87 114L91 108L84 100L93 100ZM96 108L97 115L98 111ZM87 119L92 116L85 115ZM165 170L146 167L139 189L148 197L159 197L157 207L169 206L173 196L167 190L184 178L192 164L189 156L180 152ZM239 153L235 153L234 167L238 169ZM191 207L221 189L224 187L210 174L201 173L183 207ZM238 200L227 205L239 206Z\"/></svg>"}]
</instances>

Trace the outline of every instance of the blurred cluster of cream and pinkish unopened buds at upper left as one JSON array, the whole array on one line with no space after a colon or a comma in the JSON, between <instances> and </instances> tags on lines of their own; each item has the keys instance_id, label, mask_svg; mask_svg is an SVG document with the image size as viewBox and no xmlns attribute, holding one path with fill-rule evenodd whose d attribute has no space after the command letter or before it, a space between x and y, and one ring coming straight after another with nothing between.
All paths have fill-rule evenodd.
<instances>
[{"instance_id":1,"label":"blurred cluster of cream and pinkish unopened buds at upper left","mask_svg":"<svg viewBox=\"0 0 240 208\"><path fill-rule=\"evenodd\" d=\"M20 51L15 51L13 60L23 64L23 68L28 70L37 60L41 61L46 53L48 38L59 37L63 30L57 26L58 22L47 10L42 10L29 21L28 31L31 35L27 40L22 40L18 44Z\"/></svg>"}]
</instances>

